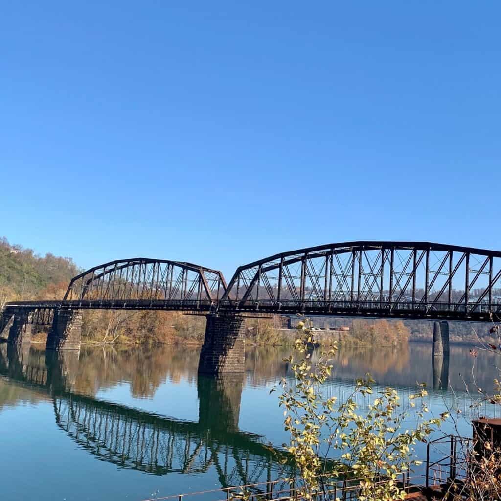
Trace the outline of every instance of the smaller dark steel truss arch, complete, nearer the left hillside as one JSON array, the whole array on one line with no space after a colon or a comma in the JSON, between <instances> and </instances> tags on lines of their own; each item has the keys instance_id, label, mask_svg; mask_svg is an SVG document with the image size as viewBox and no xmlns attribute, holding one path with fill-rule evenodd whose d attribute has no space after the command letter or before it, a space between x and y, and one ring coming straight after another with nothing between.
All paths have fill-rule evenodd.
<instances>
[{"instance_id":1,"label":"smaller dark steel truss arch, complete, nearer the left hillside","mask_svg":"<svg viewBox=\"0 0 501 501\"><path fill-rule=\"evenodd\" d=\"M74 277L62 304L195 308L210 306L225 289L224 277L217 270L179 261L134 258L111 261Z\"/></svg>"}]
</instances>

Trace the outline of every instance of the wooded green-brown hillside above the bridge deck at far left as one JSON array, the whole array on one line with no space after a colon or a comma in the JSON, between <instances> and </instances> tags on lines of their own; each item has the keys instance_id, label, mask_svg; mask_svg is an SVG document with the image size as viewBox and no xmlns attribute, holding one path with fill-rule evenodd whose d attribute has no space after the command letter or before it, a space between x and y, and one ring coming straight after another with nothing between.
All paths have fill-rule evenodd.
<instances>
[{"instance_id":1,"label":"wooded green-brown hillside above the bridge deck at far left","mask_svg":"<svg viewBox=\"0 0 501 501\"><path fill-rule=\"evenodd\" d=\"M79 272L71 258L37 256L30 248L0 238L0 291L7 301L45 298L66 288Z\"/></svg>"}]
</instances>

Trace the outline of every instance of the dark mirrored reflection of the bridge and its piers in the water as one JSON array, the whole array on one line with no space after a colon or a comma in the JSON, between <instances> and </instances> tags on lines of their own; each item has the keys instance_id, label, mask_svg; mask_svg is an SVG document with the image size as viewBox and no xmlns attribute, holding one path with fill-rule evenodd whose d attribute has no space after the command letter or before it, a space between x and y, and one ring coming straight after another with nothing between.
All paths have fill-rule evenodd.
<instances>
[{"instance_id":1,"label":"dark mirrored reflection of the bridge and its piers in the water","mask_svg":"<svg viewBox=\"0 0 501 501\"><path fill-rule=\"evenodd\" d=\"M243 375L199 376L198 422L155 415L74 391L79 353L0 345L0 374L52 399L56 424L98 459L153 474L203 473L222 487L287 475L288 455L261 435L240 431ZM214 410L217 409L216 412ZM274 475L276 476L276 475Z\"/></svg>"}]
</instances>

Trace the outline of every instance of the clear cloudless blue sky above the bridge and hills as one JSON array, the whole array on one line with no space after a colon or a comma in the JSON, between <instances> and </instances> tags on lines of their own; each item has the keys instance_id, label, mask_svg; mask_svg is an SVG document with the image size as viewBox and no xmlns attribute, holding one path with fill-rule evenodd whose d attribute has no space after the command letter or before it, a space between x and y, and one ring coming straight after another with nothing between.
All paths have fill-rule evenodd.
<instances>
[{"instance_id":1,"label":"clear cloudless blue sky above the bridge and hills","mask_svg":"<svg viewBox=\"0 0 501 501\"><path fill-rule=\"evenodd\" d=\"M501 249L498 2L11 2L0 235L82 267Z\"/></svg>"}]
</instances>

